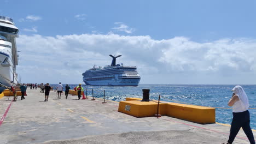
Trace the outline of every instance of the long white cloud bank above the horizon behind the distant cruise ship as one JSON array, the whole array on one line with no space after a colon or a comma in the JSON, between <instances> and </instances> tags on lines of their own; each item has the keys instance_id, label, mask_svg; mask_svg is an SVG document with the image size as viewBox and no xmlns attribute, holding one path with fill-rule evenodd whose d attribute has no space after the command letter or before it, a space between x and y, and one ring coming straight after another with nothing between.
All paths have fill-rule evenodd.
<instances>
[{"instance_id":1,"label":"long white cloud bank above the horizon behind the distant cruise ship","mask_svg":"<svg viewBox=\"0 0 256 144\"><path fill-rule=\"evenodd\" d=\"M123 55L117 63L136 65L141 83L249 84L256 80L254 39L197 43L185 37L154 40L147 35L110 33L20 35L16 41L21 51L18 73L27 82L37 77L42 82L80 83L82 73L93 65L109 65L109 54Z\"/></svg>"}]
</instances>

